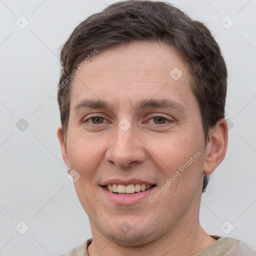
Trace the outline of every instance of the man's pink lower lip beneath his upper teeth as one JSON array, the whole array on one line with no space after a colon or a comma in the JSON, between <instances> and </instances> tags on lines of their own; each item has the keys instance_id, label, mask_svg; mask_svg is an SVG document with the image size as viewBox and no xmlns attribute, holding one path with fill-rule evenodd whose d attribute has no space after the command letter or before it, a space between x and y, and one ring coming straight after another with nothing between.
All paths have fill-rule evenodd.
<instances>
[{"instance_id":1,"label":"man's pink lower lip beneath his upper teeth","mask_svg":"<svg viewBox=\"0 0 256 256\"><path fill-rule=\"evenodd\" d=\"M155 186L149 188L148 190L141 191L138 193L134 194L127 194L127 195L122 195L122 194L115 194L110 192L109 190L105 189L104 187L101 186L101 189L107 196L107 198L117 204L134 204L138 203L145 197L149 197L149 194L152 192L152 190L155 188Z\"/></svg>"}]
</instances>

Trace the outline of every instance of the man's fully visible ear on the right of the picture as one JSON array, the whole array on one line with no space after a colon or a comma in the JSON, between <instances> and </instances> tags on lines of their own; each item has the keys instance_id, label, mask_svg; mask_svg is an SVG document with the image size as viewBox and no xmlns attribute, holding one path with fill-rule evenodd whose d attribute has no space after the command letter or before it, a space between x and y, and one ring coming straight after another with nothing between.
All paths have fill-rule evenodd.
<instances>
[{"instance_id":1,"label":"man's fully visible ear on the right of the picture","mask_svg":"<svg viewBox=\"0 0 256 256\"><path fill-rule=\"evenodd\" d=\"M203 172L210 174L223 160L227 147L227 123L221 118L209 130L209 141L206 145Z\"/></svg>"}]
</instances>

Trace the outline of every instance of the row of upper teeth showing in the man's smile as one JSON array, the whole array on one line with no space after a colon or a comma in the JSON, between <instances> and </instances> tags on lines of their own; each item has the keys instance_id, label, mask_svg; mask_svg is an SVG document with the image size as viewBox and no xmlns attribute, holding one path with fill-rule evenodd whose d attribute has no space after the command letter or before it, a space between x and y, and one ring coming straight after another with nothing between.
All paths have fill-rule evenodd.
<instances>
[{"instance_id":1,"label":"row of upper teeth showing in the man's smile","mask_svg":"<svg viewBox=\"0 0 256 256\"><path fill-rule=\"evenodd\" d=\"M128 193L132 194L134 192L145 191L151 188L153 185L146 185L146 184L108 184L105 186L107 190L114 193Z\"/></svg>"}]
</instances>

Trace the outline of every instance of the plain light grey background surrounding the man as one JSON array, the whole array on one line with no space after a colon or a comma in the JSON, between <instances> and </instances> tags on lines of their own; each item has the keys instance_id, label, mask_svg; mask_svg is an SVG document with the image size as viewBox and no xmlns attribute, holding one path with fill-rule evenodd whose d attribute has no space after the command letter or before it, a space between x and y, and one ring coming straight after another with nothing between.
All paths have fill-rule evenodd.
<instances>
[{"instance_id":1,"label":"plain light grey background surrounding the man","mask_svg":"<svg viewBox=\"0 0 256 256\"><path fill-rule=\"evenodd\" d=\"M46 94L57 86L60 45L78 23L113 2L0 1L1 256L57 255L91 236L61 157L56 96ZM201 225L209 234L242 240L256 255L256 1L171 2L206 23L229 72L228 148L202 196ZM21 15L29 21L24 29ZM24 234L21 220L29 226Z\"/></svg>"}]
</instances>

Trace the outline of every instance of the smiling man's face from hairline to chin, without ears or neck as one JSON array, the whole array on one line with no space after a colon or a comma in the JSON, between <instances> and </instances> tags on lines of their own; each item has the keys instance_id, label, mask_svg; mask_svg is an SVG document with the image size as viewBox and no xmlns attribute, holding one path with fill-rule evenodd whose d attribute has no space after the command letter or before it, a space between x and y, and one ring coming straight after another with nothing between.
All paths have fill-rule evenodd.
<instances>
[{"instance_id":1,"label":"smiling man's face from hairline to chin, without ears or neck","mask_svg":"<svg viewBox=\"0 0 256 256\"><path fill-rule=\"evenodd\" d=\"M62 153L92 235L135 245L198 217L205 143L190 82L156 42L99 52L75 75Z\"/></svg>"}]
</instances>

